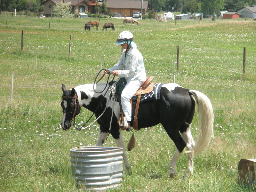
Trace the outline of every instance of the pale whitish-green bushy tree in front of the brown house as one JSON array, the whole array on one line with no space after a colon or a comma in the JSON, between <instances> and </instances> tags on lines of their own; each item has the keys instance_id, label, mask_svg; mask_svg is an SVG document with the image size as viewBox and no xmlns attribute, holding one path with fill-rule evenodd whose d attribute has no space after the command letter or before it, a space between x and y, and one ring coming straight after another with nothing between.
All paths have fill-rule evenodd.
<instances>
[{"instance_id":1,"label":"pale whitish-green bushy tree in front of the brown house","mask_svg":"<svg viewBox=\"0 0 256 192\"><path fill-rule=\"evenodd\" d=\"M53 6L53 15L57 17L73 17L74 15L70 13L71 11L71 2L63 3L63 2L56 2Z\"/></svg>"}]
</instances>

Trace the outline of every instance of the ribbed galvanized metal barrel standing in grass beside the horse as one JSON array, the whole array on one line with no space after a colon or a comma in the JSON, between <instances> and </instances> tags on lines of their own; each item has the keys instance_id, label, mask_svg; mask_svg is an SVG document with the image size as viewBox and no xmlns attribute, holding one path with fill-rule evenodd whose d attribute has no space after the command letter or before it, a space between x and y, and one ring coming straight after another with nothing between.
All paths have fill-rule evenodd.
<instances>
[{"instance_id":1,"label":"ribbed galvanized metal barrel standing in grass beside the horse","mask_svg":"<svg viewBox=\"0 0 256 192\"><path fill-rule=\"evenodd\" d=\"M102 191L120 186L123 148L76 147L70 149L71 171L76 184Z\"/></svg>"}]
</instances>

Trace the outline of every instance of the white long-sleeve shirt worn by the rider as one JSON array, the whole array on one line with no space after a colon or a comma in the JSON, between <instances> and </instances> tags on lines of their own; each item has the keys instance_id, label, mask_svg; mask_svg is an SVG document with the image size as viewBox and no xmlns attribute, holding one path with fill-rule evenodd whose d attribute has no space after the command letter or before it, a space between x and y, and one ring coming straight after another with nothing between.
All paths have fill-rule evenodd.
<instances>
[{"instance_id":1,"label":"white long-sleeve shirt worn by the rider","mask_svg":"<svg viewBox=\"0 0 256 192\"><path fill-rule=\"evenodd\" d=\"M119 77L125 77L125 80L132 81L137 79L139 81L146 81L146 70L144 67L144 61L141 53L137 48L131 47L128 51L126 58L125 50L123 51L120 60L108 70L112 73L114 70L118 70Z\"/></svg>"}]
</instances>

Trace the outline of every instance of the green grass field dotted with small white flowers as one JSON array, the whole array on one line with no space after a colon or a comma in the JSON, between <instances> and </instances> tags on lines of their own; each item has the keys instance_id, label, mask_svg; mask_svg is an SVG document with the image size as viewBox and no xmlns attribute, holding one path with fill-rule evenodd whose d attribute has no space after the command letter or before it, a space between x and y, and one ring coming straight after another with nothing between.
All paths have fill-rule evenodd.
<instances>
[{"instance_id":1,"label":"green grass field dotted with small white flowers","mask_svg":"<svg viewBox=\"0 0 256 192\"><path fill-rule=\"evenodd\" d=\"M141 20L139 26L131 28L123 25L123 20L100 19L98 31L95 27L85 31L84 24L90 20L95 18L27 19L2 13L0 191L83 191L76 188L71 177L69 149L94 146L99 127L95 124L80 132L73 128L62 131L61 84L70 89L93 83L101 67L109 68L118 61L121 46L114 43L124 30L133 33L144 57L147 76L155 76L155 83L173 82L175 68L176 83L210 98L214 138L204 153L194 158L192 176L183 178L187 168L184 153L177 163L179 174L171 179L168 164L175 146L163 127L157 125L136 132L136 146L127 151L131 174L124 172L121 186L109 191L252 191L237 183L237 166L240 159L256 156L256 22L177 20L175 26L174 20L165 23ZM102 31L108 22L115 24L115 31ZM91 114L82 109L76 122L82 124ZM192 125L195 140L197 127L196 113ZM127 144L131 134L123 132L123 137ZM104 146L116 147L116 144L109 137Z\"/></svg>"}]
</instances>

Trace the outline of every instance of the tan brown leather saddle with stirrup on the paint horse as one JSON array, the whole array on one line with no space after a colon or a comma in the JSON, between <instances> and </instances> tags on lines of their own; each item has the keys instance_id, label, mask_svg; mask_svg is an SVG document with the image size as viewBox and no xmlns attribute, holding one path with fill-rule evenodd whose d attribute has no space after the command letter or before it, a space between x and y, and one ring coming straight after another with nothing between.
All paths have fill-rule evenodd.
<instances>
[{"instance_id":1,"label":"tan brown leather saddle with stirrup on the paint horse","mask_svg":"<svg viewBox=\"0 0 256 192\"><path fill-rule=\"evenodd\" d=\"M133 129L134 130L139 130L138 129L138 110L139 110L139 105L140 105L140 98L142 94L146 94L149 92L152 92L154 89L154 83L151 83L151 80L154 78L154 76L149 76L148 79L140 86L138 91L134 94L134 96L137 96L137 102L136 102L136 107L135 107L135 113L134 113L134 119L133 119ZM115 96L118 97L119 100L119 105L120 105L120 119L119 119L119 127L122 130L126 130L127 126L125 126L125 116L124 112L122 110L122 105L121 105L121 94L116 94ZM132 106L132 99L130 100L131 106Z\"/></svg>"}]
</instances>

